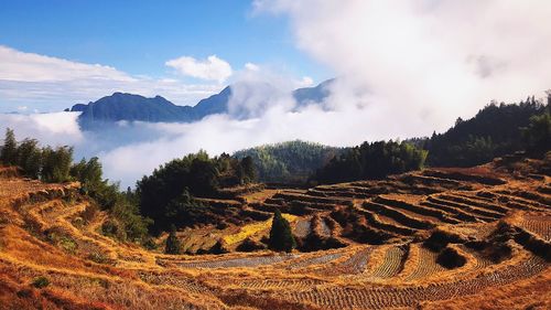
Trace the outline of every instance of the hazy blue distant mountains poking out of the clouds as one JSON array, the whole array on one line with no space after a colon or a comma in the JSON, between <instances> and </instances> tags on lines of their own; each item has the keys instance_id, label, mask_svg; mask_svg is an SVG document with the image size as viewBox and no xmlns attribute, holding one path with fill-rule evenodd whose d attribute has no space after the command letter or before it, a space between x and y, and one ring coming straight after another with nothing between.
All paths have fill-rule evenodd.
<instances>
[{"instance_id":1,"label":"hazy blue distant mountains poking out of the clouds","mask_svg":"<svg viewBox=\"0 0 551 310\"><path fill-rule=\"evenodd\" d=\"M329 94L327 86L331 82L333 79L326 81L315 87L295 89L293 97L299 103L299 106L321 103ZM187 122L199 120L209 115L227 113L230 96L231 86L228 86L220 93L202 99L197 105L192 107L176 106L161 96L147 98L140 95L115 93L95 103L74 105L71 111L82 113L79 122L86 129L101 127L106 122L119 120Z\"/></svg>"}]
</instances>

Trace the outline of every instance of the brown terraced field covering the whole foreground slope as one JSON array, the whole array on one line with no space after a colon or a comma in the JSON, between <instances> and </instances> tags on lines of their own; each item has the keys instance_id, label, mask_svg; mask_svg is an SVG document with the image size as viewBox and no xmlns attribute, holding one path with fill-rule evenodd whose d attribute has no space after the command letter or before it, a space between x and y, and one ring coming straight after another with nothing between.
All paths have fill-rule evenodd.
<instances>
[{"instance_id":1,"label":"brown terraced field covering the whole foreground slope","mask_svg":"<svg viewBox=\"0 0 551 310\"><path fill-rule=\"evenodd\" d=\"M78 184L0 168L0 309L551 309L540 164L235 191L204 202L236 223L179 232L186 255L162 254L165 235L159 250L101 235L107 215ZM239 252L262 245L276 207L299 248ZM219 239L228 254L197 255Z\"/></svg>"}]
</instances>

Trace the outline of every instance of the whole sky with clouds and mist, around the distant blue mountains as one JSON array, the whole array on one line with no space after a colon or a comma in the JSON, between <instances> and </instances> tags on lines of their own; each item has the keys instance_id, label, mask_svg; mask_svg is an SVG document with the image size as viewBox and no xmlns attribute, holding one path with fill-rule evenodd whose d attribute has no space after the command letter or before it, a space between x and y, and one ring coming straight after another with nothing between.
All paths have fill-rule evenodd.
<instances>
[{"instance_id":1,"label":"whole sky with clouds and mist, around the distant blue mountains","mask_svg":"<svg viewBox=\"0 0 551 310\"><path fill-rule=\"evenodd\" d=\"M125 185L201 149L430 136L542 98L550 15L548 0L2 1L0 125L98 156ZM291 89L332 77L296 106ZM114 92L194 105L228 84L229 111L191 124L98 133L56 113Z\"/></svg>"}]
</instances>

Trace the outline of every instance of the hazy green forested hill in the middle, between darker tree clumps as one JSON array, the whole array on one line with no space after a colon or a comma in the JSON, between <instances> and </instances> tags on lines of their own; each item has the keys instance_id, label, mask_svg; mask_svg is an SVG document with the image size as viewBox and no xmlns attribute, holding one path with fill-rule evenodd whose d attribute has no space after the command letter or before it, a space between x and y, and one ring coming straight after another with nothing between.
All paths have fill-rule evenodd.
<instances>
[{"instance_id":1,"label":"hazy green forested hill in the middle, between darker tree clumps","mask_svg":"<svg viewBox=\"0 0 551 310\"><path fill-rule=\"evenodd\" d=\"M251 157L259 181L301 183L343 151L342 148L295 140L237 151L234 157Z\"/></svg>"}]
</instances>

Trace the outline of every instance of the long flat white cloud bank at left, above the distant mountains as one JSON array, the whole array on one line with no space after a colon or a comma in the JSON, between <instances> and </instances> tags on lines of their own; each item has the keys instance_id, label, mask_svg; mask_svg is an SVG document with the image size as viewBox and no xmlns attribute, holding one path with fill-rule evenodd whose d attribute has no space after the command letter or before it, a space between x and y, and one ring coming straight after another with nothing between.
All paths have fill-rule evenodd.
<instances>
[{"instance_id":1,"label":"long flat white cloud bank at left, above the distant mountains","mask_svg":"<svg viewBox=\"0 0 551 310\"><path fill-rule=\"evenodd\" d=\"M220 90L217 84L185 84L174 78L132 76L110 66L25 53L0 45L0 111L20 106L62 110L115 92L162 95L179 105L195 105Z\"/></svg>"}]
</instances>

